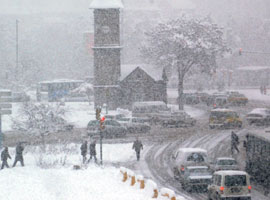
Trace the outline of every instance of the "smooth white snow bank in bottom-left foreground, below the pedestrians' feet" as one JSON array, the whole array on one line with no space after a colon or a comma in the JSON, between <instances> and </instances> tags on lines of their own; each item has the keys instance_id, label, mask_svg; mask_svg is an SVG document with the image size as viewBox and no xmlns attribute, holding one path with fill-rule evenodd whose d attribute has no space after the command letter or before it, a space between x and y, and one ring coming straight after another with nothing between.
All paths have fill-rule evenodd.
<instances>
[{"instance_id":1,"label":"smooth white snow bank in bottom-left foreground, below the pedestrians' feet","mask_svg":"<svg viewBox=\"0 0 270 200\"><path fill-rule=\"evenodd\" d=\"M128 200L147 199L116 178L118 170L90 166L85 170L26 166L1 170L0 199Z\"/></svg>"}]
</instances>

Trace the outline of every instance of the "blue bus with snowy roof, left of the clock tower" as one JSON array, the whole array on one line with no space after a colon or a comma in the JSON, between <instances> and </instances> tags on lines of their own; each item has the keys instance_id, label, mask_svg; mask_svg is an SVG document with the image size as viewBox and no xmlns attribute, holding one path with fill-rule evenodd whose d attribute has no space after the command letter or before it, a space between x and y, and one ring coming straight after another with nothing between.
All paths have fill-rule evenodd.
<instances>
[{"instance_id":1,"label":"blue bus with snowy roof, left of the clock tower","mask_svg":"<svg viewBox=\"0 0 270 200\"><path fill-rule=\"evenodd\" d=\"M49 102L60 101L67 97L72 90L79 87L83 80L57 79L41 81L37 85L37 101L48 100Z\"/></svg>"}]
</instances>

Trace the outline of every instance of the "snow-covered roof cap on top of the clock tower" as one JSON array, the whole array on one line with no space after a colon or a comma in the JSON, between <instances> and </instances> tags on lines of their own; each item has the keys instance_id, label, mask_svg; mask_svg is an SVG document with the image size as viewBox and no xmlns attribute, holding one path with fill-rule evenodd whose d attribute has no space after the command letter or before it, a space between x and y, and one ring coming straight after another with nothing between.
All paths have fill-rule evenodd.
<instances>
[{"instance_id":1,"label":"snow-covered roof cap on top of the clock tower","mask_svg":"<svg viewBox=\"0 0 270 200\"><path fill-rule=\"evenodd\" d=\"M90 9L124 8L122 0L93 0Z\"/></svg>"}]
</instances>

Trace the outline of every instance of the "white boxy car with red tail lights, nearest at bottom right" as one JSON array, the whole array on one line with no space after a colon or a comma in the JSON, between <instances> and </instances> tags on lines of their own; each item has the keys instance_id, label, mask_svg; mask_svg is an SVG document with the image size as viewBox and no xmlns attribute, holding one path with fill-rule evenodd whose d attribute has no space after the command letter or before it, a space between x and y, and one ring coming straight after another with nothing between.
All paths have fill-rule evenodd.
<instances>
[{"instance_id":1,"label":"white boxy car with red tail lights, nearest at bottom right","mask_svg":"<svg viewBox=\"0 0 270 200\"><path fill-rule=\"evenodd\" d=\"M251 200L250 177L244 171L217 171L208 186L209 200Z\"/></svg>"}]
</instances>

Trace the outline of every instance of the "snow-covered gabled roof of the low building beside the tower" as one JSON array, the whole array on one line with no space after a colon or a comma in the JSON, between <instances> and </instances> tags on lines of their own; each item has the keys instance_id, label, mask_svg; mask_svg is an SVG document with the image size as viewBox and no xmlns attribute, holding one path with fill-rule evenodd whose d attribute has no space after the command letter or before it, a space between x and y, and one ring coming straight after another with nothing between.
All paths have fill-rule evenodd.
<instances>
[{"instance_id":1,"label":"snow-covered gabled roof of the low building beside the tower","mask_svg":"<svg viewBox=\"0 0 270 200\"><path fill-rule=\"evenodd\" d=\"M124 80L131 72L133 72L137 67L141 68L148 75L150 75L156 81L162 80L163 69L156 68L153 65L146 64L132 64L132 65L121 65L121 80Z\"/></svg>"}]
</instances>

